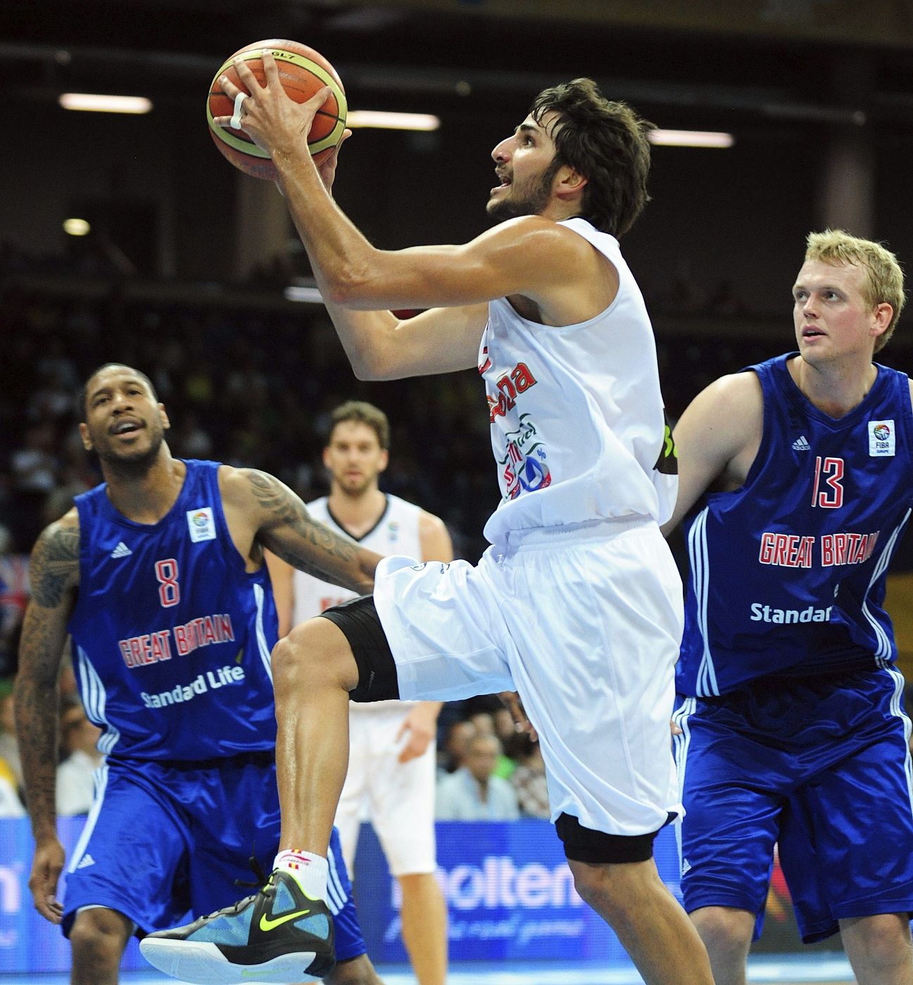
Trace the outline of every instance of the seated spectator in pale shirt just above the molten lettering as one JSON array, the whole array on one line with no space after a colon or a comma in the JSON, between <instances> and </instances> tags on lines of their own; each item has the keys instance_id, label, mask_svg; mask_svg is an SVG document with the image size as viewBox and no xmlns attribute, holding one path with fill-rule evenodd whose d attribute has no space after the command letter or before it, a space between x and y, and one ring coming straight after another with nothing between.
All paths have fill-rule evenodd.
<instances>
[{"instance_id":1,"label":"seated spectator in pale shirt just above the molten lettering","mask_svg":"<svg viewBox=\"0 0 913 985\"><path fill-rule=\"evenodd\" d=\"M520 817L517 794L493 775L501 743L495 735L475 735L464 766L438 782L438 821L514 821Z\"/></svg>"}]
</instances>

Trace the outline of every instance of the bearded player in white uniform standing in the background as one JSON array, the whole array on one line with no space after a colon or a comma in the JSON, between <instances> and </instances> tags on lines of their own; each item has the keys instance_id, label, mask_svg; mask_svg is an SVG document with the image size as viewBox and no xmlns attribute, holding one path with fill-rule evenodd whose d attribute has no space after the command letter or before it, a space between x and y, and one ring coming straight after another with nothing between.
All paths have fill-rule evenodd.
<instances>
[{"instance_id":1,"label":"bearded player in white uniform standing in the background","mask_svg":"<svg viewBox=\"0 0 913 985\"><path fill-rule=\"evenodd\" d=\"M328 496L308 511L331 530L381 555L421 560L454 558L440 517L382 493L378 480L389 458L389 422L372 404L351 400L330 416L323 449ZM268 556L279 634L356 597ZM435 878L435 733L440 701L374 701L349 705L349 771L336 827L350 873L363 808L381 840L402 893L402 940L419 985L447 980L447 905Z\"/></svg>"}]
</instances>

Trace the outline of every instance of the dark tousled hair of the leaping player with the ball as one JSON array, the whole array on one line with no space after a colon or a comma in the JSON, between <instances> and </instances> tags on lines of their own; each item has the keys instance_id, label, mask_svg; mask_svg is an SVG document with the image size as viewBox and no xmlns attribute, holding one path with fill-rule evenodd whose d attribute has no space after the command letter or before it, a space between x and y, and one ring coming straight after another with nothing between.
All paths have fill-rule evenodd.
<instances>
[{"instance_id":1,"label":"dark tousled hair of the leaping player with the ball","mask_svg":"<svg viewBox=\"0 0 913 985\"><path fill-rule=\"evenodd\" d=\"M650 201L648 134L655 125L627 103L605 99L592 79L543 90L529 115L541 124L547 112L560 118L552 132L556 165L568 164L587 178L583 218L597 230L624 235Z\"/></svg>"}]
</instances>

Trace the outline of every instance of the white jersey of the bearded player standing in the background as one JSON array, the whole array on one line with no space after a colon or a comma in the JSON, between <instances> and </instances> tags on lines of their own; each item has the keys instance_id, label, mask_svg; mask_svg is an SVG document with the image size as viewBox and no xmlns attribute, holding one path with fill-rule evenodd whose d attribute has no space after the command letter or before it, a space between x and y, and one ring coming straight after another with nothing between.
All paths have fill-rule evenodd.
<instances>
[{"instance_id":1,"label":"white jersey of the bearded player standing in the background","mask_svg":"<svg viewBox=\"0 0 913 985\"><path fill-rule=\"evenodd\" d=\"M333 519L325 495L309 502L308 512L316 520L325 523L343 537L353 540L351 534ZM358 544L381 555L406 555L409 558L421 560L422 544L419 532L421 514L421 507L416 506L415 503L406 502L405 499L400 499L396 495L387 495L384 515L378 520L374 528L358 541ZM340 602L348 602L349 599L356 598L355 592L351 592L347 588L340 588L338 585L331 585L327 581L320 581L313 574L306 574L304 571L298 570L294 571L293 574L294 602L292 613L295 624L319 616L324 609L328 609L330 606L336 606ZM360 703L352 701L349 707L356 714L369 714L373 710L394 705L405 708L412 703L414 702L372 701Z\"/></svg>"}]
</instances>

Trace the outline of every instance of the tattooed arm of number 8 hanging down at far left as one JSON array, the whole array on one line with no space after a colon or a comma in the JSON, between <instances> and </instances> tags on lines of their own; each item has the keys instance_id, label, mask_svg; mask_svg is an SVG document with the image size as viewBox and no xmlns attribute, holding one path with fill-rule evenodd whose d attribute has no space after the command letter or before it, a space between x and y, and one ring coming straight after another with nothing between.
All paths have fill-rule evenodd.
<instances>
[{"instance_id":1,"label":"tattooed arm of number 8 hanging down at far left","mask_svg":"<svg viewBox=\"0 0 913 985\"><path fill-rule=\"evenodd\" d=\"M59 923L63 911L55 896L64 852L57 838L55 801L57 677L79 584L79 518L75 509L38 537L29 576L32 601L23 624L14 692L26 806L35 835L29 887L41 916Z\"/></svg>"}]
</instances>

